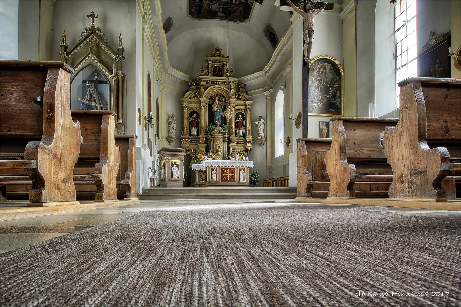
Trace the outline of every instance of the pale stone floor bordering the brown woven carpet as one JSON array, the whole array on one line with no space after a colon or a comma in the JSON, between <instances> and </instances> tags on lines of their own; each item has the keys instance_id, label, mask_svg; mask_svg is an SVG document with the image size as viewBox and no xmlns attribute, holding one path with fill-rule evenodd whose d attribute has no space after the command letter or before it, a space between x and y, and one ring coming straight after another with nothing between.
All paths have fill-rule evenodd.
<instances>
[{"instance_id":1,"label":"pale stone floor bordering the brown woven carpet","mask_svg":"<svg viewBox=\"0 0 461 307\"><path fill-rule=\"evenodd\" d=\"M216 205L219 206L220 200L216 199ZM258 199L251 199L258 201ZM267 202L268 199L260 199L261 202ZM322 203L301 203L293 199L276 199L276 203L306 205L315 209L319 208L344 208L344 209L369 209L372 211L389 212L395 214L411 215L431 215L442 218L460 219L460 211L435 210L435 209L414 209L400 207L378 207L378 206L361 206L349 204L322 204ZM41 241L59 237L71 232L77 232L89 227L104 224L113 220L118 220L136 214L143 210L154 209L158 207L174 207L177 200L142 200L140 203L129 205L106 207L99 209L90 209L84 211L68 212L61 214L52 214L45 216L30 217L18 220L5 220L0 226L0 252L4 253L9 250L19 249ZM181 201L183 203L183 201ZM242 200L242 203L244 201ZM7 202L1 204L1 207L8 206Z\"/></svg>"}]
</instances>

